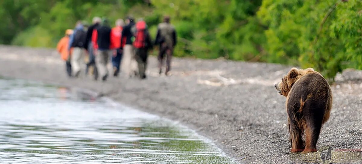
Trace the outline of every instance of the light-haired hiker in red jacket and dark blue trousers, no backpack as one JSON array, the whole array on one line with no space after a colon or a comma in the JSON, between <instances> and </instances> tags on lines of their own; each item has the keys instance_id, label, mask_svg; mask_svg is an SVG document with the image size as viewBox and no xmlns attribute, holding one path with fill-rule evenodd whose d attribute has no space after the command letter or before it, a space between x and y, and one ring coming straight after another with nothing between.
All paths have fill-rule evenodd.
<instances>
[{"instance_id":1,"label":"light-haired hiker in red jacket and dark blue trousers, no backpack","mask_svg":"<svg viewBox=\"0 0 362 164\"><path fill-rule=\"evenodd\" d=\"M126 42L123 42L123 45L121 45L121 36L124 25L125 22L123 19L118 19L115 21L115 27L111 30L111 49L114 49L112 56L113 76L118 76L122 60L122 48L126 44ZM123 37L123 39L126 39L126 37Z\"/></svg>"}]
</instances>

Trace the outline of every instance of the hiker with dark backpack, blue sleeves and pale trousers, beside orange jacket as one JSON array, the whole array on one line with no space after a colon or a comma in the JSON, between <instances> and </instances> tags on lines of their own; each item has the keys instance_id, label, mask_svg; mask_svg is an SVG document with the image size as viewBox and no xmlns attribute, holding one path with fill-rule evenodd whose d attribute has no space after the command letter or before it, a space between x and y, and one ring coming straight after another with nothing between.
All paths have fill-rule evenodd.
<instances>
[{"instance_id":1,"label":"hiker with dark backpack, blue sleeves and pale trousers, beside orange jacket","mask_svg":"<svg viewBox=\"0 0 362 164\"><path fill-rule=\"evenodd\" d=\"M85 40L87 37L87 33L83 29L83 24L78 21L75 29L73 30L73 34L70 35L69 38L69 47L68 51L73 48L71 53L71 65L73 70L73 75L75 77L79 76L81 66L84 63L84 54L85 54Z\"/></svg>"}]
</instances>

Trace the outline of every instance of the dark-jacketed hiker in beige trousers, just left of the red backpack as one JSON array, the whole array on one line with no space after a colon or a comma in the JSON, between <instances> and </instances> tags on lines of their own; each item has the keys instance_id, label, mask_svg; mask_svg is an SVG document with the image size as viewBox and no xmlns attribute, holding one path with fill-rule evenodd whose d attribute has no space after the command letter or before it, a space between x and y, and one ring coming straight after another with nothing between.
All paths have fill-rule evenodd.
<instances>
[{"instance_id":1,"label":"dark-jacketed hiker in beige trousers, just left of the red backpack","mask_svg":"<svg viewBox=\"0 0 362 164\"><path fill-rule=\"evenodd\" d=\"M122 38L126 37L126 45L123 47L123 57L122 57L122 72L125 73L126 78L134 76L137 71L137 62L135 60L134 47L132 45L132 27L134 24L134 19L132 17L127 17L126 26L122 30ZM121 45L123 45L124 39L121 38Z\"/></svg>"}]
</instances>

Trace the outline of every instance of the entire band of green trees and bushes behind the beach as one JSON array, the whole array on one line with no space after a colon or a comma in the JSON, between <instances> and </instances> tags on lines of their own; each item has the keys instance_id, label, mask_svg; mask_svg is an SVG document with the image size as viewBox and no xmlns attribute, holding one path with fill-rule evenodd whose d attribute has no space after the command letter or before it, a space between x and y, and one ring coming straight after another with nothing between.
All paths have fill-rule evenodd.
<instances>
[{"instance_id":1,"label":"entire band of green trees and bushes behind the beach","mask_svg":"<svg viewBox=\"0 0 362 164\"><path fill-rule=\"evenodd\" d=\"M77 20L172 18L175 56L362 69L361 0L2 0L0 44L55 47Z\"/></svg>"}]
</instances>

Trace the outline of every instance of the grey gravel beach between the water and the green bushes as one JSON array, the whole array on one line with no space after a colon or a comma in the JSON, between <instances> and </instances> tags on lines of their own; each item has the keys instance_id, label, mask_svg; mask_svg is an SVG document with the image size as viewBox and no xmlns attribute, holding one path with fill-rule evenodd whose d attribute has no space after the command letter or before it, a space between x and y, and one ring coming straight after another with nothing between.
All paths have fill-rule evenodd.
<instances>
[{"instance_id":1,"label":"grey gravel beach between the water and the green bushes","mask_svg":"<svg viewBox=\"0 0 362 164\"><path fill-rule=\"evenodd\" d=\"M69 79L52 49L0 46L0 75L83 88L115 102L178 121L212 140L239 163L295 163L290 157L285 98L274 84L289 71L280 64L173 58L172 76L148 79ZM336 87L339 86L339 87ZM362 148L362 85L332 86L333 109L317 148Z\"/></svg>"}]
</instances>

